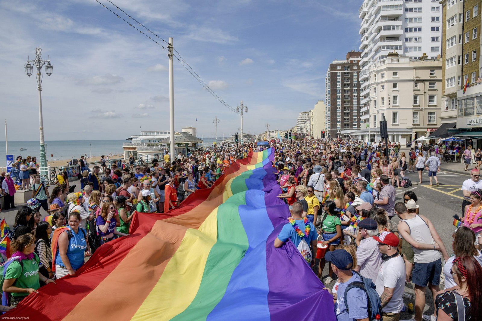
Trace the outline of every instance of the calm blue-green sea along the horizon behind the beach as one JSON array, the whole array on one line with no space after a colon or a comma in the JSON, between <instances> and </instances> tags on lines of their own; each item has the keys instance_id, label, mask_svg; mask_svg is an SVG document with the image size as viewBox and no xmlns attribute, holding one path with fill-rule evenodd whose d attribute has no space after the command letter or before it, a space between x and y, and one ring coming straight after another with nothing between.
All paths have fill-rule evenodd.
<instances>
[{"instance_id":1,"label":"calm blue-green sea along the horizon behind the beach","mask_svg":"<svg viewBox=\"0 0 482 321\"><path fill-rule=\"evenodd\" d=\"M213 138L203 138L205 144L213 144ZM222 137L218 137L218 142L222 141ZM97 141L46 141L45 153L47 161L79 159L80 155L90 155L93 157L112 154L122 154L122 144L125 140L97 140ZM21 151L20 148L26 148ZM13 154L13 159L18 155L23 158L27 156L36 156L39 158L40 144L39 141L9 141L8 153ZM0 142L0 167L6 166L5 143ZM53 155L53 156L51 156Z\"/></svg>"}]
</instances>

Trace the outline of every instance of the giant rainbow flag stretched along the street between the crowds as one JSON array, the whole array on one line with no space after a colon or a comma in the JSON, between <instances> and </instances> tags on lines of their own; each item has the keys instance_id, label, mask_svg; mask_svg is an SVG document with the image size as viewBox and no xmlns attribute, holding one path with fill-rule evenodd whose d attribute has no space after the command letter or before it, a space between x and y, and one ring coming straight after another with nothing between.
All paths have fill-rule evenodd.
<instances>
[{"instance_id":1,"label":"giant rainbow flag stretched along the street between the crowds","mask_svg":"<svg viewBox=\"0 0 482 321\"><path fill-rule=\"evenodd\" d=\"M8 317L31 320L336 320L293 243L272 149L228 167L168 215L137 213L131 236L102 245L78 271L28 295Z\"/></svg>"}]
</instances>

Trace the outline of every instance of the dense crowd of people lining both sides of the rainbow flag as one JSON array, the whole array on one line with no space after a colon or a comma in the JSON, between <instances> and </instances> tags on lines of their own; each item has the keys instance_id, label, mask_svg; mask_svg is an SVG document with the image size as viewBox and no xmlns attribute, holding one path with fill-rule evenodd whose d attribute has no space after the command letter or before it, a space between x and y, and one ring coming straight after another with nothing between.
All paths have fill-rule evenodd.
<instances>
[{"instance_id":1,"label":"dense crowd of people lining both sides of the rainbow flag","mask_svg":"<svg viewBox=\"0 0 482 321\"><path fill-rule=\"evenodd\" d=\"M454 233L455 255L449 257L417 204L417 195L402 192L402 201L396 202L407 171L416 168L422 181L422 172L428 170L430 185L432 178L438 184L442 150L416 146L405 154L401 146L390 144L386 155L381 142L367 145L308 139L271 141L270 146L280 184L278 197L292 215L274 246L282 247L291 240L323 284L330 285L326 291L334 297L337 320L371 320L376 304L373 295L369 289L354 286L357 282L369 284L367 280L373 282L383 320L399 320L405 308L404 288L412 283L413 320L477 319L482 307L482 286L474 282L482 271L482 180L478 169L472 170L462 187L464 226ZM26 182L32 199L17 212L12 244L20 262L37 262L37 271L25 274L35 282L18 272L34 269L35 264L13 262L6 268L3 291L12 294L14 306L42 284L67 274L75 276L84 257L98 246L128 235L134 211L167 214L197 190L210 188L237 159L263 148L254 143L241 147L225 144L174 158L166 151L148 165L138 165L129 157L120 168L104 164L102 175L99 166L92 171L84 167L80 193L69 191L68 179L62 174L50 191L32 174L31 187ZM5 185L3 191L8 193L10 184ZM43 219L41 208L46 213ZM398 224L395 216L400 218ZM435 307L432 315L423 315L427 287Z\"/></svg>"}]
</instances>

